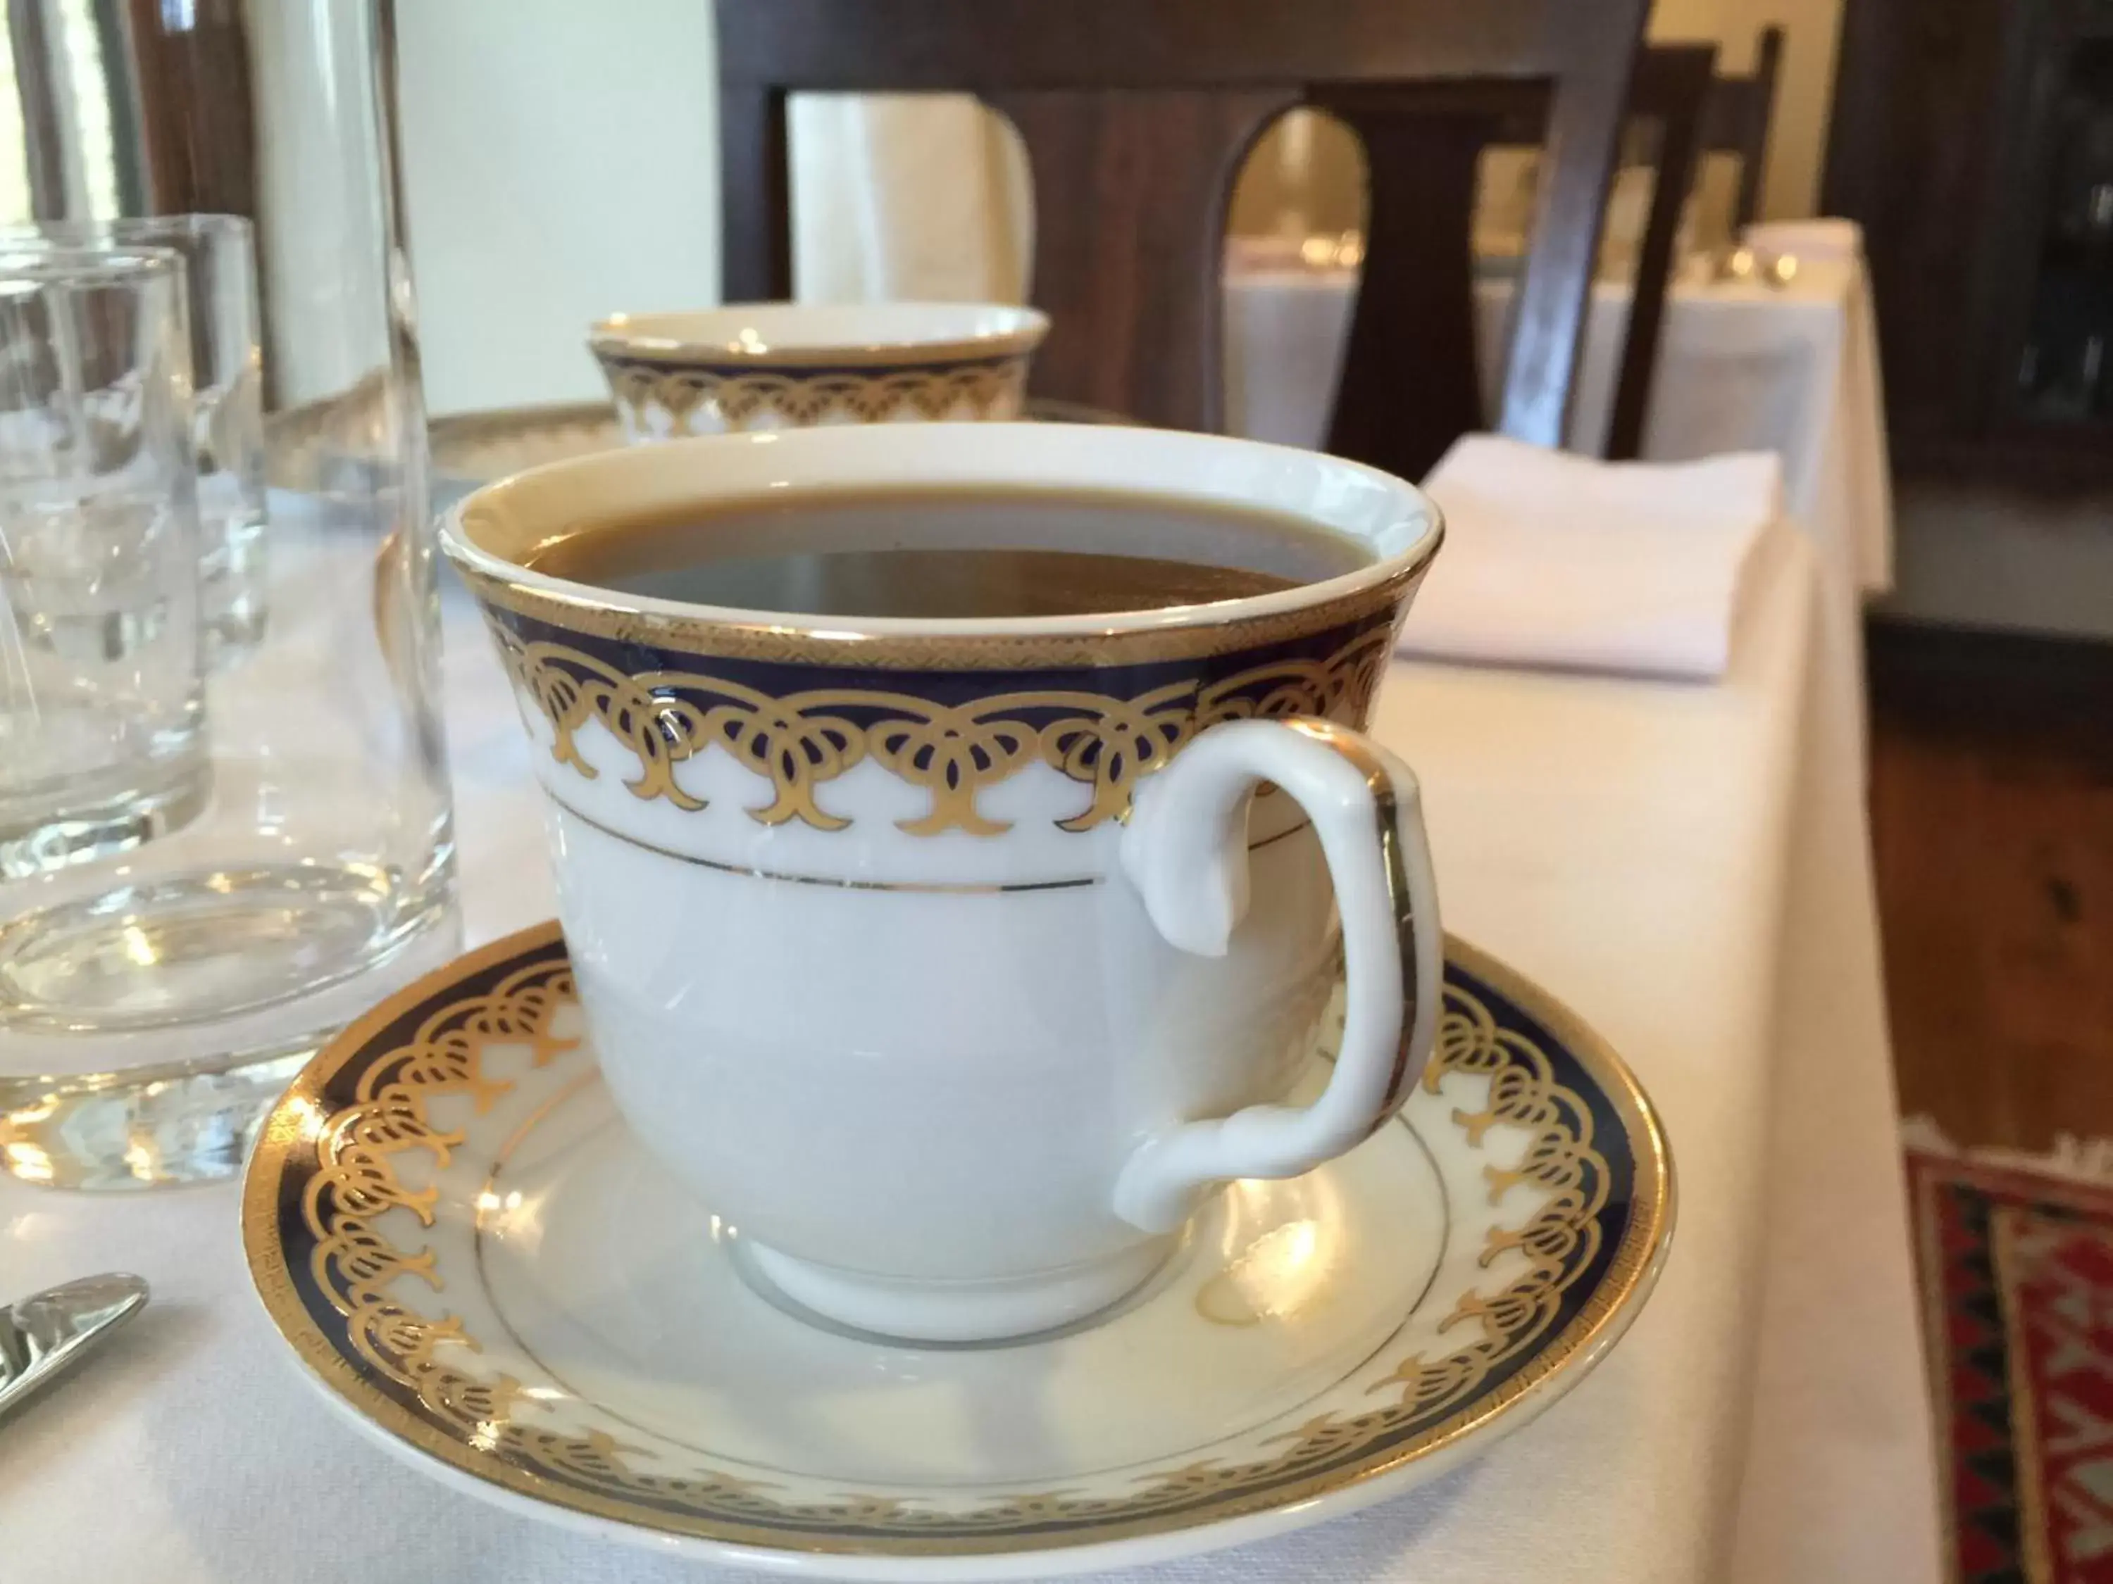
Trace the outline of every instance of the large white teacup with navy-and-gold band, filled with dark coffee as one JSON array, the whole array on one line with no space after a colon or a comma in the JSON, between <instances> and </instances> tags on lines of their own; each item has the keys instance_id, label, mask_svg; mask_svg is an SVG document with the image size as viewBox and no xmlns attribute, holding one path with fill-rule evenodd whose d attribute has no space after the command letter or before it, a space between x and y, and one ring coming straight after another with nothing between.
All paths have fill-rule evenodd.
<instances>
[{"instance_id":1,"label":"large white teacup with navy-and-gold band, filled with dark coffee","mask_svg":"<svg viewBox=\"0 0 2113 1584\"><path fill-rule=\"evenodd\" d=\"M1012 532L1261 568L1242 524L1268 513L1335 570L930 619L528 566L623 524L678 524L706 560L794 543L845 492L902 486L970 501L930 528L949 555ZM1067 515L985 517L985 492ZM1111 503L1147 503L1154 543ZM742 541L750 505L769 517ZM1431 1054L1441 934L1416 781L1359 729L1439 534L1352 463L1067 425L632 448L456 507L444 545L535 741L602 1073L754 1269L875 1333L1042 1331L1143 1282L1217 1183L1306 1172L1392 1115Z\"/></svg>"}]
</instances>

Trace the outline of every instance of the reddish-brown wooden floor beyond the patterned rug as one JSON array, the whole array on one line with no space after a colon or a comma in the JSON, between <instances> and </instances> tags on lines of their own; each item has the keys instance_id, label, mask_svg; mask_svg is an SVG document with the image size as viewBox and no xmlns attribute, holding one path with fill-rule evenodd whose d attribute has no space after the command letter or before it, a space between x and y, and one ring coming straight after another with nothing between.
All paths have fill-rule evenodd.
<instances>
[{"instance_id":1,"label":"reddish-brown wooden floor beyond the patterned rug","mask_svg":"<svg viewBox=\"0 0 2113 1584\"><path fill-rule=\"evenodd\" d=\"M1870 661L1902 1109L2113 1138L2113 646L1874 623Z\"/></svg>"}]
</instances>

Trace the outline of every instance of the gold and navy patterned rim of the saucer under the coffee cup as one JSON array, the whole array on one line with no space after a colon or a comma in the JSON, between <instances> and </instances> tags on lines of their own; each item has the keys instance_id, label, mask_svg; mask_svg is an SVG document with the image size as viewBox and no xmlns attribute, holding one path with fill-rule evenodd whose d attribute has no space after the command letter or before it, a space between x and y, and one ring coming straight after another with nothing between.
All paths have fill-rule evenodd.
<instances>
[{"instance_id":1,"label":"gold and navy patterned rim of the saucer under the coffee cup","mask_svg":"<svg viewBox=\"0 0 2113 1584\"><path fill-rule=\"evenodd\" d=\"M881 1493L784 1500L769 1485L723 1470L653 1468L655 1459L636 1457L602 1430L545 1428L520 1381L473 1373L478 1339L444 1303L414 1307L410 1295L437 1288L435 1257L399 1242L399 1227L431 1225L437 1189L412 1185L423 1172L399 1176L397 1159L423 1153L444 1162L461 1145L433 1119L433 1100L469 1098L482 1109L503 1094L507 1081L482 1069L486 1045L526 1045L539 1067L571 1052L575 1041L554 1031L573 993L554 923L471 953L385 1001L308 1064L266 1121L249 1164L249 1269L302 1362L370 1423L516 1495L649 1533L775 1552L974 1557L1171 1533L1310 1502L1460 1447L1515 1404L1566 1390L1633 1318L1665 1257L1671 1164L1635 1079L1568 1010L1492 959L1458 942L1447 942L1447 957L1545 1026L1619 1119L1633 1159L1619 1246L1600 1265L1610 1166L1593 1136L1591 1105L1555 1081L1534 1041L1500 1026L1473 993L1447 984L1424 1086L1437 1092L1452 1073L1488 1077L1488 1109L1456 1111L1454 1121L1471 1140L1494 1126L1528 1132L1515 1168L1488 1170L1490 1193L1502 1200L1511 1187L1532 1183L1545 1202L1526 1225L1492 1231L1481 1255L1483 1267L1498 1257L1507 1265L1523 1261L1523 1274L1492 1295L1469 1290L1454 1305L1441 1326L1460 1339L1454 1352L1403 1358L1371 1388L1369 1409L1321 1413L1278 1436L1261 1459L1204 1457L1147 1470L1114 1495L1052 1489L942 1510ZM450 999L452 984L492 972L501 978L490 991ZM408 1033L376 1050L412 1018ZM336 1328L317 1320L296 1286L289 1233L313 1244L304 1274L340 1316ZM1593 1267L1589 1297L1555 1328L1564 1295ZM1500 1366L1515 1369L1477 1398Z\"/></svg>"}]
</instances>

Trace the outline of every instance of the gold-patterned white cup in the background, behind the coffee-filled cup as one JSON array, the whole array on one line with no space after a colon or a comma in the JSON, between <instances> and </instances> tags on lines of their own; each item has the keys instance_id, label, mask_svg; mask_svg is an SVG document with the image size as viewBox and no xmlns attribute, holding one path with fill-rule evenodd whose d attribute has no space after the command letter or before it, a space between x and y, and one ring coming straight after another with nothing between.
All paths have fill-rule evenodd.
<instances>
[{"instance_id":1,"label":"gold-patterned white cup in the background, behind the coffee-filled cup","mask_svg":"<svg viewBox=\"0 0 2113 1584\"><path fill-rule=\"evenodd\" d=\"M1044 334L991 302L733 302L611 315L587 346L640 441L1018 418Z\"/></svg>"}]
</instances>

